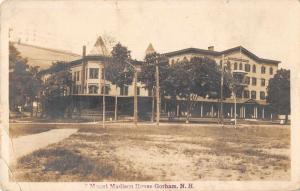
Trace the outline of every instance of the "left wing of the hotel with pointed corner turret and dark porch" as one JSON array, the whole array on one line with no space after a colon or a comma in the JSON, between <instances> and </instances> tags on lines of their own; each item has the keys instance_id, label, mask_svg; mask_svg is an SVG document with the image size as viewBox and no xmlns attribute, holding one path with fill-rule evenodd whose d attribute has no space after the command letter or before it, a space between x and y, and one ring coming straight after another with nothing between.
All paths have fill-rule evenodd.
<instances>
[{"instance_id":1,"label":"left wing of the hotel with pointed corner turret and dark porch","mask_svg":"<svg viewBox=\"0 0 300 191\"><path fill-rule=\"evenodd\" d=\"M108 115L114 113L115 110L124 115L133 113L133 83L118 87L104 78L105 66L111 64L111 60L110 52L99 37L89 54L86 54L86 48L83 47L82 57L68 63L74 82L70 95L77 102L75 108L81 107L81 109L95 110L100 113L102 110L99 108L103 107L103 96L105 96ZM140 61L131 60L128 68L134 67L140 70L141 64ZM150 104L149 107L151 107L150 97L141 82L137 82L137 96L139 102ZM141 113L143 108L140 109Z\"/></svg>"}]
</instances>

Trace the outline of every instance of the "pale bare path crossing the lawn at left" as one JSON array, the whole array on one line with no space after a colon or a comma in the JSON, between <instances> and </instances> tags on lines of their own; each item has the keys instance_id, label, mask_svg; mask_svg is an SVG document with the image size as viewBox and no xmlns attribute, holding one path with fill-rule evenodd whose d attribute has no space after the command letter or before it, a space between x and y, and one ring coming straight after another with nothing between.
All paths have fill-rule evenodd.
<instances>
[{"instance_id":1,"label":"pale bare path crossing the lawn at left","mask_svg":"<svg viewBox=\"0 0 300 191\"><path fill-rule=\"evenodd\" d=\"M78 129L52 129L43 133L13 138L10 144L10 161L17 159L35 150L57 143L77 132Z\"/></svg>"}]
</instances>

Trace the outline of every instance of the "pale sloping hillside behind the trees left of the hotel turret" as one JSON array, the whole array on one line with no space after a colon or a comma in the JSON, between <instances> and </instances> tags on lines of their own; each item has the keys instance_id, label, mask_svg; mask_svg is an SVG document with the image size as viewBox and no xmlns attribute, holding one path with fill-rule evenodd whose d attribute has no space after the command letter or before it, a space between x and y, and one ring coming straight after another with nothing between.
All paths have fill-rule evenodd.
<instances>
[{"instance_id":1,"label":"pale sloping hillside behind the trees left of the hotel turret","mask_svg":"<svg viewBox=\"0 0 300 191\"><path fill-rule=\"evenodd\" d=\"M24 43L13 43L21 56L27 58L28 65L40 66L40 69L46 69L55 61L72 61L79 59L81 56L63 50L55 50L51 48L44 48L35 45Z\"/></svg>"}]
</instances>

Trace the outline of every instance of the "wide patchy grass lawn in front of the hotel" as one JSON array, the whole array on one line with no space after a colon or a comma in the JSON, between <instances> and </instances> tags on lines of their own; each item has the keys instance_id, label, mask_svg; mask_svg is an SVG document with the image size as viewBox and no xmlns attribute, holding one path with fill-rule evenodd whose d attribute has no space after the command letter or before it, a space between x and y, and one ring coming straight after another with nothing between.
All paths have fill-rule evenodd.
<instances>
[{"instance_id":1,"label":"wide patchy grass lawn in front of the hotel","mask_svg":"<svg viewBox=\"0 0 300 191\"><path fill-rule=\"evenodd\" d=\"M39 128L43 125L36 127ZM77 125L72 128L79 131L20 158L14 167L15 178L18 181L290 179L287 126L102 129Z\"/></svg>"}]
</instances>

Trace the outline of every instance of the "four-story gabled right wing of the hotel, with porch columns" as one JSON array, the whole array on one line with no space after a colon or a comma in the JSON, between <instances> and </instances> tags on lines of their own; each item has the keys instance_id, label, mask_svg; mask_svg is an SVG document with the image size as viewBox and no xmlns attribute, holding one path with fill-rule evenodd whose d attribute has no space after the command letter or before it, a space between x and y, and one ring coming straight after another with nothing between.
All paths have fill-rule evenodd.
<instances>
[{"instance_id":1,"label":"four-story gabled right wing of the hotel, with porch columns","mask_svg":"<svg viewBox=\"0 0 300 191\"><path fill-rule=\"evenodd\" d=\"M224 51L215 51L213 46L205 49L187 48L164 54L169 63L189 60L192 57L209 57L217 64L225 64L232 72L244 71L245 88L237 93L237 115L239 118L271 118L270 108L266 103L267 86L270 78L274 76L280 61L264 59L256 56L242 46ZM233 117L233 98L225 100L225 116ZM200 116L214 117L218 115L219 103L217 100L200 99L198 110ZM180 106L179 106L180 107ZM178 109L180 110L180 108ZM197 110L197 109L196 109ZM197 112L196 112L197 113Z\"/></svg>"}]
</instances>

